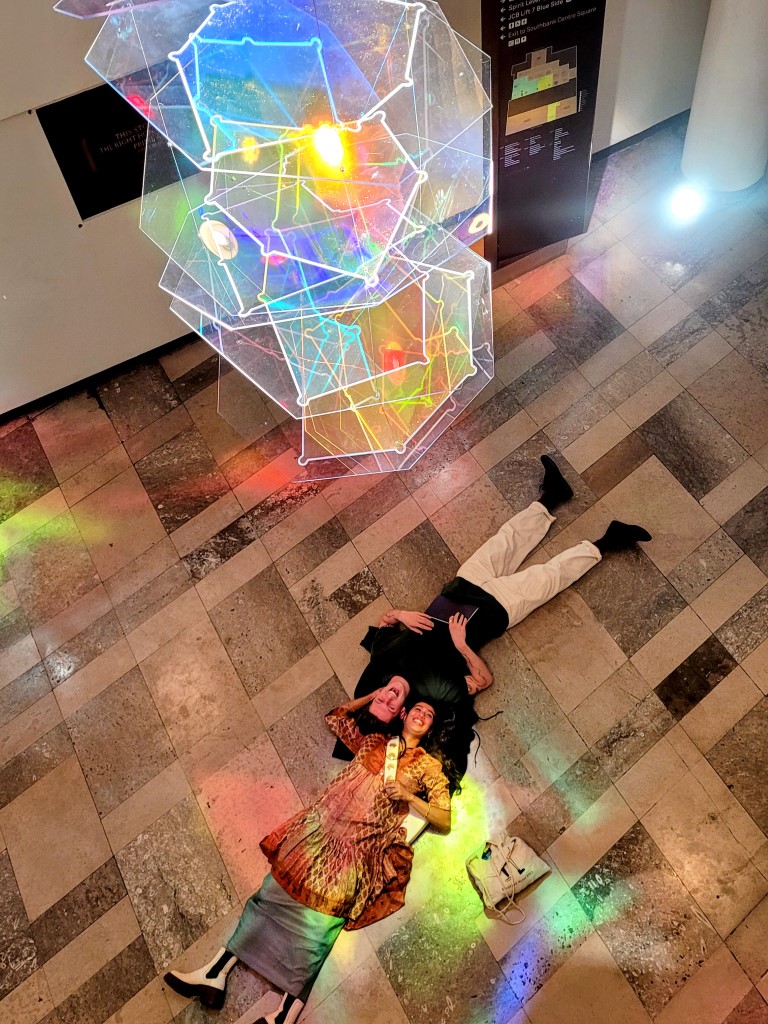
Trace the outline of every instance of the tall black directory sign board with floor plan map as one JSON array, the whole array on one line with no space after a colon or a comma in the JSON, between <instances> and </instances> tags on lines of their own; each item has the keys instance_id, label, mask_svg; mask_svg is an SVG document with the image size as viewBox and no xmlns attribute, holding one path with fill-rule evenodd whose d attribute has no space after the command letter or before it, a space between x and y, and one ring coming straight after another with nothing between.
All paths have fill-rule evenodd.
<instances>
[{"instance_id":1,"label":"tall black directory sign board with floor plan map","mask_svg":"<svg viewBox=\"0 0 768 1024\"><path fill-rule=\"evenodd\" d=\"M495 109L495 266L585 229L605 0L483 0Z\"/></svg>"}]
</instances>

